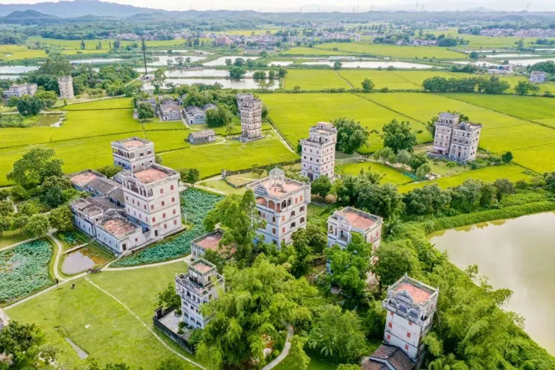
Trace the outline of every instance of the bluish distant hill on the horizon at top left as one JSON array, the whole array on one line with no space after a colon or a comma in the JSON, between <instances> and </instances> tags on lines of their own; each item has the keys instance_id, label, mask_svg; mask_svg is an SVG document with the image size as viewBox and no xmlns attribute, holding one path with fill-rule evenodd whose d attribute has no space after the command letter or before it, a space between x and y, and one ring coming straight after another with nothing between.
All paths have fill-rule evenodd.
<instances>
[{"instance_id":1,"label":"bluish distant hill on the horizon at top left","mask_svg":"<svg viewBox=\"0 0 555 370\"><path fill-rule=\"evenodd\" d=\"M125 18L137 13L164 12L157 9L140 8L131 5L108 3L99 0L62 0L36 4L0 4L0 17L14 12L35 11L56 14L57 17L74 18L82 16L113 16Z\"/></svg>"}]
</instances>

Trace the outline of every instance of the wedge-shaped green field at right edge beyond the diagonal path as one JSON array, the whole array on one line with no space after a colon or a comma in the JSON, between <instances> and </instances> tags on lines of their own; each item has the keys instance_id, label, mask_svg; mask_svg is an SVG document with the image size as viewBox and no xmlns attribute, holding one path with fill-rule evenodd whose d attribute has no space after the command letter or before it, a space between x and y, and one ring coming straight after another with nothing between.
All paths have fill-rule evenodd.
<instances>
[{"instance_id":1,"label":"wedge-shaped green field at right edge beyond the diagonal path","mask_svg":"<svg viewBox=\"0 0 555 370\"><path fill-rule=\"evenodd\" d=\"M485 94L444 94L443 96L527 120L555 118L555 101L552 98Z\"/></svg>"}]
</instances>

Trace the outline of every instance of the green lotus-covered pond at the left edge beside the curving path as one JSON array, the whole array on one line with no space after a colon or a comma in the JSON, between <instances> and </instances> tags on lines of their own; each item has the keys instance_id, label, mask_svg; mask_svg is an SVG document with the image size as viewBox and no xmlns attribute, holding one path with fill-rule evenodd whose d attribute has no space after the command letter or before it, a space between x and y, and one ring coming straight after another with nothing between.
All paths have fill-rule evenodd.
<instances>
[{"instance_id":1,"label":"green lotus-covered pond at the left edge beside the curving path","mask_svg":"<svg viewBox=\"0 0 555 370\"><path fill-rule=\"evenodd\" d=\"M0 251L0 303L50 285L48 265L51 257L52 245L44 239Z\"/></svg>"}]
</instances>

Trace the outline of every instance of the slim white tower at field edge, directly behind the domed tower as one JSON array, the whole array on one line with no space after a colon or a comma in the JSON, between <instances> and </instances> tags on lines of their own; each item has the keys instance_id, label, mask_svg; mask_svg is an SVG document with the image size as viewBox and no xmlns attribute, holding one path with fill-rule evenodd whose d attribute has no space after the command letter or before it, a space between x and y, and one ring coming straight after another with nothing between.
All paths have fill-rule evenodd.
<instances>
[{"instance_id":1,"label":"slim white tower at field edge, directly behind the domed tower","mask_svg":"<svg viewBox=\"0 0 555 370\"><path fill-rule=\"evenodd\" d=\"M301 175L310 181L325 175L334 178L337 129L328 122L310 128L308 139L301 140Z\"/></svg>"}]
</instances>

